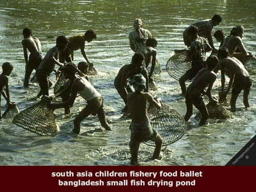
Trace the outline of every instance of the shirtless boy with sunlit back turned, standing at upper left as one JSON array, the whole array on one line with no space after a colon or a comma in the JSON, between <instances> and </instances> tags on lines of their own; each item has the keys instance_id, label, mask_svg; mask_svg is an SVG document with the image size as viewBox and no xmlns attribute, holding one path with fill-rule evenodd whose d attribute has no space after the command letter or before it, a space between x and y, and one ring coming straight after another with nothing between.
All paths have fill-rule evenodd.
<instances>
[{"instance_id":1,"label":"shirtless boy with sunlit back turned, standing at upper left","mask_svg":"<svg viewBox=\"0 0 256 192\"><path fill-rule=\"evenodd\" d=\"M26 62L23 86L28 87L28 82L32 71L38 68L40 62L42 61L42 48L40 40L32 36L32 30L30 28L24 28L22 33L24 37L22 40L22 46ZM30 52L29 59L27 50Z\"/></svg>"}]
</instances>

